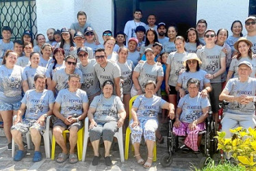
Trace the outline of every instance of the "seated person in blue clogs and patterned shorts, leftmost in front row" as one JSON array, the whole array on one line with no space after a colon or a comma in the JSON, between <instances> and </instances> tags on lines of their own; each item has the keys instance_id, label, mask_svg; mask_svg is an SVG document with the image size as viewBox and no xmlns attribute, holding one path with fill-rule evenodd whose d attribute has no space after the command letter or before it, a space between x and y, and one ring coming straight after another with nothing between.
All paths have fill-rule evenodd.
<instances>
[{"instance_id":1,"label":"seated person in blue clogs and patterned shorts, leftmost in front row","mask_svg":"<svg viewBox=\"0 0 256 171\"><path fill-rule=\"evenodd\" d=\"M51 90L44 89L46 82L44 75L35 75L34 81L36 88L27 90L25 93L21 101L21 107L18 109L17 118L11 127L14 142L18 144L18 151L14 156L14 161L21 161L26 155L22 134L25 135L29 130L35 146L33 161L36 162L42 159L42 153L40 153L41 135L45 130L47 116L53 113L54 96ZM25 114L24 119L22 119L23 114Z\"/></svg>"}]
</instances>

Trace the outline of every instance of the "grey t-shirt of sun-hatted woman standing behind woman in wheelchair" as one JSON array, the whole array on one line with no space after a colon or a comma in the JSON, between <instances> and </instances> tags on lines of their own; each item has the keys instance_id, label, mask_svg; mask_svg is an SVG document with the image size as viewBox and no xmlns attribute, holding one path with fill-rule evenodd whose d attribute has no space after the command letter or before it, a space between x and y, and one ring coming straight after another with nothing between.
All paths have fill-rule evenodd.
<instances>
[{"instance_id":1,"label":"grey t-shirt of sun-hatted woman standing behind woman in wheelchair","mask_svg":"<svg viewBox=\"0 0 256 171\"><path fill-rule=\"evenodd\" d=\"M200 81L199 92L201 92L204 89L204 84L210 82L209 79L205 78L205 75L207 75L207 73L205 72L205 70L201 70L201 69L194 73L185 71L181 73L181 75L179 75L178 83L181 83L181 87L183 88L183 90L188 91L187 90L188 80L191 78L198 79Z\"/></svg>"}]
</instances>

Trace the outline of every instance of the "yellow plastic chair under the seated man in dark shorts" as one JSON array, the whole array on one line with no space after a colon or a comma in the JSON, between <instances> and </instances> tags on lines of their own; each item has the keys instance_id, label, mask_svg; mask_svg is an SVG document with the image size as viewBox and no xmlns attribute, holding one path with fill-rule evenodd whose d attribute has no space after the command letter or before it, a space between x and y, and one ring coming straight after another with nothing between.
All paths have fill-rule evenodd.
<instances>
[{"instance_id":1,"label":"yellow plastic chair under the seated man in dark shorts","mask_svg":"<svg viewBox=\"0 0 256 171\"><path fill-rule=\"evenodd\" d=\"M62 132L62 135L64 137L65 143L66 143L66 133L69 133L69 130L66 129ZM79 129L77 131L77 157L78 160L81 161L82 153L83 153L83 140L84 140L84 127ZM55 137L53 135L53 142L51 144L51 159L54 160L55 158Z\"/></svg>"}]
</instances>

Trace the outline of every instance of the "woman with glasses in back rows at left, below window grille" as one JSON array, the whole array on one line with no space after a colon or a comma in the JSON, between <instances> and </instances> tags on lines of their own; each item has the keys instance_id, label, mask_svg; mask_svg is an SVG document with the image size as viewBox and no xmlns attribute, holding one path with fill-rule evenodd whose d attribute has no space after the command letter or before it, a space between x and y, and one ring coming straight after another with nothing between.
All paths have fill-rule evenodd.
<instances>
[{"instance_id":1,"label":"woman with glasses in back rows at left, below window grille","mask_svg":"<svg viewBox=\"0 0 256 171\"><path fill-rule=\"evenodd\" d=\"M25 66L29 66L29 64L30 64L29 57L30 57L30 54L33 51L34 51L33 44L31 44L31 42L25 42L24 43L24 53L25 53L25 55L22 56L22 57L18 57L16 65L21 66L23 68Z\"/></svg>"}]
</instances>

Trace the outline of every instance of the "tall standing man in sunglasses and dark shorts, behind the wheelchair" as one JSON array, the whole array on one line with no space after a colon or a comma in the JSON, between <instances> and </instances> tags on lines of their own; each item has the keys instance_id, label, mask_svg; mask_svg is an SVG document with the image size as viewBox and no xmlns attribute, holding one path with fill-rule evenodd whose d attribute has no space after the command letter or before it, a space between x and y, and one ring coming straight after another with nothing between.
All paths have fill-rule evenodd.
<instances>
[{"instance_id":1,"label":"tall standing man in sunglasses and dark shorts, behind the wheelchair","mask_svg":"<svg viewBox=\"0 0 256 171\"><path fill-rule=\"evenodd\" d=\"M226 70L226 54L222 51L223 47L215 44L216 33L212 29L205 31L205 46L196 51L196 55L202 61L201 69L205 70L205 78L210 79L212 92L209 92L212 103L214 119L218 120L218 96L222 90L221 75Z\"/></svg>"}]
</instances>

